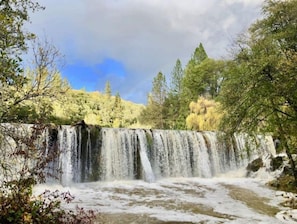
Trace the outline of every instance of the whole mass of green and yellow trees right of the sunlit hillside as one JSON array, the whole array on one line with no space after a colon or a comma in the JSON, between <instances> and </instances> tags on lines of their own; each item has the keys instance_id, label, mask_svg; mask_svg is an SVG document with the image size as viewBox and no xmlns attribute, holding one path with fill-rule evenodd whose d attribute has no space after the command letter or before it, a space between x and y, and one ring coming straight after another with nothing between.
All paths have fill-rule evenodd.
<instances>
[{"instance_id":1,"label":"whole mass of green and yellow trees right of the sunlit hillside","mask_svg":"<svg viewBox=\"0 0 297 224\"><path fill-rule=\"evenodd\" d=\"M262 19L235 41L230 60L209 58L201 43L184 69L178 60L169 88L162 83L165 99L155 110L149 95L140 120L153 128L270 133L297 186L297 1L267 0L262 9Z\"/></svg>"}]
</instances>

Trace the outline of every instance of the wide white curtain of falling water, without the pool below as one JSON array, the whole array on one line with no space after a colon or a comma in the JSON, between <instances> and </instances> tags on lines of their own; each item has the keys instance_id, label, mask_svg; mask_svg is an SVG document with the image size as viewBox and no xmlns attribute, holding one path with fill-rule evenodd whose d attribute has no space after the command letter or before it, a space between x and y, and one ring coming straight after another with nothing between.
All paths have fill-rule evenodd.
<instances>
[{"instance_id":1,"label":"wide white curtain of falling water, without the pool below","mask_svg":"<svg viewBox=\"0 0 297 224\"><path fill-rule=\"evenodd\" d=\"M275 153L270 136L236 134L222 141L216 132L70 127L58 129L55 163L61 182L166 177L210 178Z\"/></svg>"}]
</instances>

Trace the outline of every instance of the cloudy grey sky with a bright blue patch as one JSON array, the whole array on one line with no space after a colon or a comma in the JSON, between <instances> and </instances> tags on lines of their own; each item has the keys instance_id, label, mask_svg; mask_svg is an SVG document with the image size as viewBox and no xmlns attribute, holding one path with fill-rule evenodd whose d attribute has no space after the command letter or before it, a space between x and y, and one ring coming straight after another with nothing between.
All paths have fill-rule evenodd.
<instances>
[{"instance_id":1,"label":"cloudy grey sky with a bright blue patch","mask_svg":"<svg viewBox=\"0 0 297 224\"><path fill-rule=\"evenodd\" d=\"M264 0L39 0L28 29L65 56L72 88L147 103L152 80L169 79L199 43L209 57L228 58L236 37L261 17Z\"/></svg>"}]
</instances>

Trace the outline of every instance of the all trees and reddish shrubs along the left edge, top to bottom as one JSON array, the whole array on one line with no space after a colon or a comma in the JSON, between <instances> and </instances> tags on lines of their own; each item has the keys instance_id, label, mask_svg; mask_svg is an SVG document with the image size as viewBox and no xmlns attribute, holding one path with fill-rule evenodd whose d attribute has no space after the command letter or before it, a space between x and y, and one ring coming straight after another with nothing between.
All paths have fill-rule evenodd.
<instances>
[{"instance_id":1,"label":"all trees and reddish shrubs along the left edge, top to bottom","mask_svg":"<svg viewBox=\"0 0 297 224\"><path fill-rule=\"evenodd\" d=\"M62 208L62 201L73 199L68 193L32 194L32 187L45 180L44 168L58 153L46 153L40 139L44 116L53 111L51 101L68 88L56 66L59 51L47 41L35 39L33 67L26 72L21 67L27 41L34 39L23 25L29 13L39 9L31 0L0 1L0 222L91 223L92 211ZM27 130L7 124L28 118L36 125L26 126Z\"/></svg>"}]
</instances>

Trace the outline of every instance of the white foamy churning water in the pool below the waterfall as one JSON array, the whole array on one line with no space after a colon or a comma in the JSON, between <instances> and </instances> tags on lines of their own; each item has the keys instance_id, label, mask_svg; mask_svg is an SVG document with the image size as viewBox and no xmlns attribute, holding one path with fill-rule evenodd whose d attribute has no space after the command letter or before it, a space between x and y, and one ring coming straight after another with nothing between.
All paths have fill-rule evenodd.
<instances>
[{"instance_id":1,"label":"white foamy churning water in the pool below the waterfall","mask_svg":"<svg viewBox=\"0 0 297 224\"><path fill-rule=\"evenodd\" d=\"M247 178L170 178L154 183L133 180L75 183L69 187L39 185L34 189L35 194L44 189L73 194L75 199L66 205L68 208L78 205L117 217L135 215L134 223L143 223L137 220L145 215L160 223L277 224L282 222L274 210L284 209L275 191L260 180ZM119 223L125 223L123 220Z\"/></svg>"}]
</instances>

